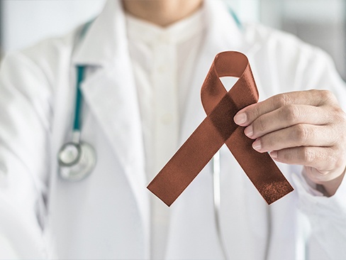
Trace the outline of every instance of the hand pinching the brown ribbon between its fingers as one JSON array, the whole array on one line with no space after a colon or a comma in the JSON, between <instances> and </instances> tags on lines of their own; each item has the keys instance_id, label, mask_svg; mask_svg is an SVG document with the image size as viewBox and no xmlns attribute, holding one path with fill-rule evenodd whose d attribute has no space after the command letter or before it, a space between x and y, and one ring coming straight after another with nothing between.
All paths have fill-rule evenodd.
<instances>
[{"instance_id":1,"label":"hand pinching the brown ribbon between its fingers","mask_svg":"<svg viewBox=\"0 0 346 260\"><path fill-rule=\"evenodd\" d=\"M252 147L275 161L304 166L306 178L334 195L346 168L346 114L328 90L288 92L234 117Z\"/></svg>"}]
</instances>

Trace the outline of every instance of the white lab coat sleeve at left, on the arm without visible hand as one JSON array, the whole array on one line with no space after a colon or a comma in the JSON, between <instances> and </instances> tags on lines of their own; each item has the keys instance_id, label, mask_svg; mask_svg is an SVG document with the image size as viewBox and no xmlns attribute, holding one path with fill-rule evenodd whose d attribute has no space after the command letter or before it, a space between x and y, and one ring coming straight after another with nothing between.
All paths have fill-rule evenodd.
<instances>
[{"instance_id":1,"label":"white lab coat sleeve at left, on the arm without visible hand","mask_svg":"<svg viewBox=\"0 0 346 260\"><path fill-rule=\"evenodd\" d=\"M45 257L50 88L23 53L0 67L0 259Z\"/></svg>"}]
</instances>

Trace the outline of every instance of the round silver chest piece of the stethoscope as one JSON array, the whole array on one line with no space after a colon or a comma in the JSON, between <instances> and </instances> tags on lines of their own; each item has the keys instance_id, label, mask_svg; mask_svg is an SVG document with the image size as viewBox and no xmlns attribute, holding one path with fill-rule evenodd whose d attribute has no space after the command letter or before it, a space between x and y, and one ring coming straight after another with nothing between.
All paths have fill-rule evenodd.
<instances>
[{"instance_id":1,"label":"round silver chest piece of the stethoscope","mask_svg":"<svg viewBox=\"0 0 346 260\"><path fill-rule=\"evenodd\" d=\"M86 178L96 165L94 148L85 142L65 143L58 153L60 178L78 181Z\"/></svg>"}]
</instances>

